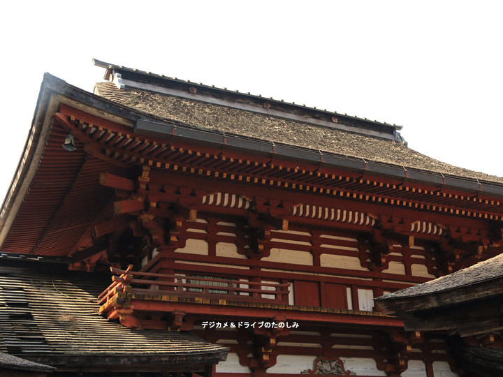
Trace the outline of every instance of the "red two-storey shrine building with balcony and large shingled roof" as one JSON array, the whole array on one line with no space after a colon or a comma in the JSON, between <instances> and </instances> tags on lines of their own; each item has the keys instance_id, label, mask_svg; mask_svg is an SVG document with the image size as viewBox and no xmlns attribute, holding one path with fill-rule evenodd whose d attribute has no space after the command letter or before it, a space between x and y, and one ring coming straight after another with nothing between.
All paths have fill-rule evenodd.
<instances>
[{"instance_id":1,"label":"red two-storey shrine building with balcony and large shingled roof","mask_svg":"<svg viewBox=\"0 0 503 377\"><path fill-rule=\"evenodd\" d=\"M94 334L131 339L117 363L136 357L145 374L468 375L446 334L406 331L373 299L500 254L502 178L419 154L392 124L95 64L107 81L94 94L43 80L0 219L0 256L41 268L0 269L13 313L0 315L0 352L92 373L78 347L82 364L65 367L54 344L70 330L58 338L41 319L61 301L54 316L85 332L57 279L96 297L82 304ZM44 353L6 330L21 286Z\"/></svg>"}]
</instances>

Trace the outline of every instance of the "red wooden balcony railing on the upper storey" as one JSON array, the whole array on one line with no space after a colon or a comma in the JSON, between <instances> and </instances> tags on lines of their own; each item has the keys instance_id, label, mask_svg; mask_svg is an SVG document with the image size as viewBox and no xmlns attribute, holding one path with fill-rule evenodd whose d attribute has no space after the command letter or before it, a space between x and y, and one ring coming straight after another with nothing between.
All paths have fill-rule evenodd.
<instances>
[{"instance_id":1,"label":"red wooden balcony railing on the upper storey","mask_svg":"<svg viewBox=\"0 0 503 377\"><path fill-rule=\"evenodd\" d=\"M265 283L243 279L220 279L199 274L155 274L110 268L112 284L99 295L99 304L108 302L115 293L130 292L139 295L176 295L180 297L207 297L233 301L275 302L288 304L290 283ZM264 288L267 287L267 288Z\"/></svg>"}]
</instances>

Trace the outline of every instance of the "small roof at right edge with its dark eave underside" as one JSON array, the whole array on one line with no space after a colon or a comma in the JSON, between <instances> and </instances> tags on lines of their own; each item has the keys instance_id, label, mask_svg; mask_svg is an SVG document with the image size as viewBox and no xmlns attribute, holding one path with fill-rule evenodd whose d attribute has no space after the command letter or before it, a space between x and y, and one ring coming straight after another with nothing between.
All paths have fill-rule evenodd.
<instances>
[{"instance_id":1,"label":"small roof at right edge with its dark eave underside","mask_svg":"<svg viewBox=\"0 0 503 377\"><path fill-rule=\"evenodd\" d=\"M503 254L500 254L439 279L377 297L374 301L384 313L402 318L405 330L444 332L462 338L475 336L477 342L483 337L501 337L502 267ZM501 357L502 350L498 352ZM482 356L474 355L476 358Z\"/></svg>"}]
</instances>

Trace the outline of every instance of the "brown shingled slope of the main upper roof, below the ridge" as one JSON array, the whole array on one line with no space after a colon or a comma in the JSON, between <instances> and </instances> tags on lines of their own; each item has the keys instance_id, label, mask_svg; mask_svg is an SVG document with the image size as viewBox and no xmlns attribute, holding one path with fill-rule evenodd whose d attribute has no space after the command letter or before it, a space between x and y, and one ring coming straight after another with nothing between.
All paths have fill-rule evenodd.
<instances>
[{"instance_id":1,"label":"brown shingled slope of the main upper roof, below the ridge","mask_svg":"<svg viewBox=\"0 0 503 377\"><path fill-rule=\"evenodd\" d=\"M189 98L170 96L145 89L131 87L118 89L111 82L97 83L95 92L110 101L154 117L198 128L321 150L340 156L363 158L365 161L503 184L501 177L437 161L392 140L194 101Z\"/></svg>"}]
</instances>

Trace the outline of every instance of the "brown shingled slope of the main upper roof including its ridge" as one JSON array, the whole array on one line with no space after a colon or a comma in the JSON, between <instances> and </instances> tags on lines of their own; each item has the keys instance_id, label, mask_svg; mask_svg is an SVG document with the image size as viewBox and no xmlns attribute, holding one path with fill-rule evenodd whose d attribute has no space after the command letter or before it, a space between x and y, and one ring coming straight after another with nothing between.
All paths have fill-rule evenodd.
<instances>
[{"instance_id":1,"label":"brown shingled slope of the main upper roof including its ridge","mask_svg":"<svg viewBox=\"0 0 503 377\"><path fill-rule=\"evenodd\" d=\"M309 114L302 114L299 109L292 108L290 110L294 112L293 115L287 113L289 109L285 110L285 108L281 111L271 111L275 108L275 103L268 103L266 98L262 98L262 101L265 101L263 104L268 107L268 111L264 112L264 109L258 106L255 106L256 110L254 110L254 107L246 101L255 100L256 97L246 98L245 94L235 94L237 97L231 98L228 91L224 100L219 98L219 101L215 101L211 98L210 101L205 101L204 96L199 95L194 95L193 97L197 99L193 99L190 95L182 94L181 96L180 80L165 79L159 84L159 75L141 73L131 68L110 67L123 74L122 70L126 70L125 72L130 75L134 73L138 77L134 80L139 81L133 83L133 78L129 77L129 80L124 80L126 84L117 85L117 80L115 83L99 82L96 84L95 94L158 117L163 121L174 121L209 131L314 149L328 154L395 165L405 169L503 184L502 177L458 168L410 149L404 142L400 142L402 138L396 131L398 126L350 117L347 117L347 121L345 119L342 121L337 118L341 118L340 114L333 117L336 123L330 124L330 121L319 120L327 115L323 111L317 114L315 110L308 109L305 112ZM163 90L166 87L160 85L166 85L166 87L175 85L177 89ZM187 85L191 85L194 93L201 89L201 85L198 86L198 84ZM207 91L207 86L202 87ZM228 103L234 101L238 105L226 105L226 101ZM281 112L284 114L282 115ZM319 119L315 119L316 117ZM344 126L343 123L349 126ZM395 136L389 137L389 133Z\"/></svg>"}]
</instances>

